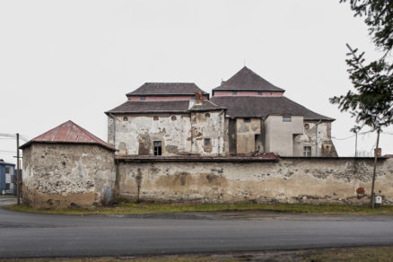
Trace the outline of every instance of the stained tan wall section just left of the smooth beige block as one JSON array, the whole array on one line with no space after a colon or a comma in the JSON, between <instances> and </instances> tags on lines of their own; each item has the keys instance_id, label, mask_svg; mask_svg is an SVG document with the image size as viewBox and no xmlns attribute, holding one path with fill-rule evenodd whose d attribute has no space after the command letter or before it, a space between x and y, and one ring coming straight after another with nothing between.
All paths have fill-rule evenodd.
<instances>
[{"instance_id":1,"label":"stained tan wall section just left of the smooth beige block","mask_svg":"<svg viewBox=\"0 0 393 262\"><path fill-rule=\"evenodd\" d=\"M258 148L259 153L263 152L260 127L259 118L250 118L249 122L244 122L244 118L236 118L236 151L238 154L253 154L258 151ZM258 135L257 141L255 135Z\"/></svg>"}]
</instances>

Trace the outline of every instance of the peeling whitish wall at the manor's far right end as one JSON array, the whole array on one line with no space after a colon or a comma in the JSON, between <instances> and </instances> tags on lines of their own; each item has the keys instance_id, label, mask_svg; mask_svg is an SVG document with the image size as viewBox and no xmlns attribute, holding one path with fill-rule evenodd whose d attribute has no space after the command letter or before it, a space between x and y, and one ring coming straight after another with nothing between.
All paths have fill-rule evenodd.
<instances>
[{"instance_id":1,"label":"peeling whitish wall at the manor's far right end","mask_svg":"<svg viewBox=\"0 0 393 262\"><path fill-rule=\"evenodd\" d=\"M303 134L296 135L293 141L293 155L302 156L304 146L311 147L311 156L316 156L316 125L317 121L304 121ZM309 128L305 128L308 125ZM321 122L318 125L318 155L336 157L336 147L331 140L331 122Z\"/></svg>"}]
</instances>

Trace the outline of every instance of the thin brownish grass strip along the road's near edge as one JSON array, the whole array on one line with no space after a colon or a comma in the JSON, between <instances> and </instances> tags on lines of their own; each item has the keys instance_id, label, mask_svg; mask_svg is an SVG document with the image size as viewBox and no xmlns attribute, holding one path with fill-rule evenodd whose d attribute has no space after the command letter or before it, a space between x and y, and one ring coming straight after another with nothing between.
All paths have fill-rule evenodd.
<instances>
[{"instance_id":1,"label":"thin brownish grass strip along the road's near edge","mask_svg":"<svg viewBox=\"0 0 393 262\"><path fill-rule=\"evenodd\" d=\"M298 261L298 262L389 262L393 261L393 247L356 247L336 249L303 249L259 252L186 254L118 258L5 258L0 262L243 262L243 261Z\"/></svg>"}]
</instances>

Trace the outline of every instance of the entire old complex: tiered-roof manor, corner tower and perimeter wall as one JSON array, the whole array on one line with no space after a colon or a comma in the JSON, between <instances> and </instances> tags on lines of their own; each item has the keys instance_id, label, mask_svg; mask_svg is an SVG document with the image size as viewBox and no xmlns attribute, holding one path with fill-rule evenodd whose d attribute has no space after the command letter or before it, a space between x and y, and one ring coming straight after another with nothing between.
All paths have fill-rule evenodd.
<instances>
[{"instance_id":1,"label":"entire old complex: tiered-roof manor, corner tower and perimeter wall","mask_svg":"<svg viewBox=\"0 0 393 262\"><path fill-rule=\"evenodd\" d=\"M336 157L334 119L247 67L212 96L195 83L144 83L106 114L108 143L66 121L20 147L24 203L369 202L356 189L371 188L375 160ZM378 170L375 191L391 204L393 160Z\"/></svg>"}]
</instances>

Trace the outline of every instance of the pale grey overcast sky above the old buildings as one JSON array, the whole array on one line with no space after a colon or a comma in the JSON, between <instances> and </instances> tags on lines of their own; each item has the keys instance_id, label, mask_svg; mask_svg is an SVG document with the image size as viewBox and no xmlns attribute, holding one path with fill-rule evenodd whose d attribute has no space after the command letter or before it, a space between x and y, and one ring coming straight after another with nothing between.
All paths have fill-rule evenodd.
<instances>
[{"instance_id":1,"label":"pale grey overcast sky above the old buildings","mask_svg":"<svg viewBox=\"0 0 393 262\"><path fill-rule=\"evenodd\" d=\"M353 14L338 0L2 0L0 133L31 139L71 119L106 141L103 112L144 82L211 92L245 61L289 99L336 118L334 137L348 137L354 119L328 102L352 86L345 43L380 56ZM361 135L359 149L370 153L375 138ZM339 155L354 155L354 137L333 141ZM393 153L393 135L380 144ZM13 140L0 139L0 158L15 162L4 151L15 151Z\"/></svg>"}]
</instances>

